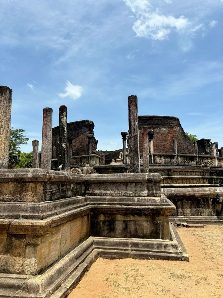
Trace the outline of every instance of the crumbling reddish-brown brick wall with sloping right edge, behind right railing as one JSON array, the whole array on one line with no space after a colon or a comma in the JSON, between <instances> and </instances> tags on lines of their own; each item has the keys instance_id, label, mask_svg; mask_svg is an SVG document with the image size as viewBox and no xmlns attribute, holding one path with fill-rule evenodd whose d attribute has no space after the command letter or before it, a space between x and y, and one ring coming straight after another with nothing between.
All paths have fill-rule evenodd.
<instances>
[{"instance_id":1,"label":"crumbling reddish-brown brick wall with sloping right edge, behind right railing","mask_svg":"<svg viewBox=\"0 0 223 298\"><path fill-rule=\"evenodd\" d=\"M170 116L138 116L139 148L142 153L142 127L154 131L153 146L155 153L174 153L174 139L177 141L178 153L194 154L191 140L185 135L180 120Z\"/></svg>"}]
</instances>

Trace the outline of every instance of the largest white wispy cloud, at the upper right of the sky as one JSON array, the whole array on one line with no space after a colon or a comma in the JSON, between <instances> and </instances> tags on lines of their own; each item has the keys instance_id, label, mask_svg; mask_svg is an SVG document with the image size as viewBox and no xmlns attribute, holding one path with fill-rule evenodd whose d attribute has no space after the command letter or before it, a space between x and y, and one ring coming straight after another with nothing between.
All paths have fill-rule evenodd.
<instances>
[{"instance_id":1,"label":"largest white wispy cloud, at the upper right of the sky","mask_svg":"<svg viewBox=\"0 0 223 298\"><path fill-rule=\"evenodd\" d=\"M175 2L175 6L173 7L173 5L169 5L172 3L172 0L123 1L131 8L137 18L132 26L132 29L138 37L144 37L152 40L168 40L170 39L172 33L176 33L179 37L179 46L183 51L188 51L193 45L192 38L194 38L199 31L201 34L205 31L205 24L199 20L200 15L193 15L193 13L191 13L193 12L193 8L190 7L189 9L188 7L192 5L192 3L188 3L188 5L186 5ZM211 4L208 0L206 0L206 2L204 5L207 5L208 8ZM195 11L198 8L202 10L199 0L194 1L193 3L194 5L197 5L194 7ZM214 5L216 6L216 3L214 3L213 6ZM169 8L170 6L171 9ZM185 16L185 14L188 16ZM203 13L201 13L201 16L202 14ZM217 21L211 21L208 26L213 28L216 24Z\"/></svg>"}]
</instances>

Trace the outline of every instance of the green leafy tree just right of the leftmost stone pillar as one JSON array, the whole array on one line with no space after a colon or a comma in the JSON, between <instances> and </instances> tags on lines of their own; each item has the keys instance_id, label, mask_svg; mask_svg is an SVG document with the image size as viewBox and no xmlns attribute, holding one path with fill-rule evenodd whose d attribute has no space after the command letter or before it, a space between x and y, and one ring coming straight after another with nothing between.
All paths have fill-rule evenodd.
<instances>
[{"instance_id":1,"label":"green leafy tree just right of the leftmost stone pillar","mask_svg":"<svg viewBox=\"0 0 223 298\"><path fill-rule=\"evenodd\" d=\"M21 156L22 156L20 146L27 144L29 140L29 138L26 138L26 136L23 134L24 132L25 130L20 128L13 129L12 127L10 129L9 158L8 158L8 165L10 169L15 168L15 166L17 166L20 163ZM26 162L28 163L29 160L27 160Z\"/></svg>"}]
</instances>

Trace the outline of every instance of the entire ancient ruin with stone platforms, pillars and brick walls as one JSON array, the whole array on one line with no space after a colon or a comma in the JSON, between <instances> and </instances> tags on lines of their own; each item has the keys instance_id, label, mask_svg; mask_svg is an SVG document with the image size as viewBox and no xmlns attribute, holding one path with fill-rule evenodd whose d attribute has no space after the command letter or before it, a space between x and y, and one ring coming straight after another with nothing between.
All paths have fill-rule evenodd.
<instances>
[{"instance_id":1,"label":"entire ancient ruin with stone platforms, pillars and brick walls","mask_svg":"<svg viewBox=\"0 0 223 298\"><path fill-rule=\"evenodd\" d=\"M52 128L44 108L41 160L34 140L32 169L8 169L11 102L1 86L0 297L66 297L97 258L188 261L171 223L222 224L222 148L178 118L138 116L131 95L122 149L105 154L93 122L62 105Z\"/></svg>"}]
</instances>

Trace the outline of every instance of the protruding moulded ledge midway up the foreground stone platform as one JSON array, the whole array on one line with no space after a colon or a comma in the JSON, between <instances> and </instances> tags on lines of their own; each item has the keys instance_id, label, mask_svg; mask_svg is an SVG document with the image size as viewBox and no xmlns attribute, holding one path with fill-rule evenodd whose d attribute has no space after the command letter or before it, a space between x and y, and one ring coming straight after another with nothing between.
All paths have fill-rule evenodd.
<instances>
[{"instance_id":1,"label":"protruding moulded ledge midway up the foreground stone platform","mask_svg":"<svg viewBox=\"0 0 223 298\"><path fill-rule=\"evenodd\" d=\"M171 215L176 207L164 195L154 197L74 197L43 203L0 203L0 231L44 235L59 224L89 212ZM17 218L17 212L21 216ZM6 213L4 213L7 211ZM15 217L15 218L13 218Z\"/></svg>"}]
</instances>

